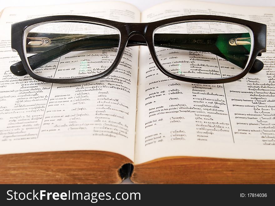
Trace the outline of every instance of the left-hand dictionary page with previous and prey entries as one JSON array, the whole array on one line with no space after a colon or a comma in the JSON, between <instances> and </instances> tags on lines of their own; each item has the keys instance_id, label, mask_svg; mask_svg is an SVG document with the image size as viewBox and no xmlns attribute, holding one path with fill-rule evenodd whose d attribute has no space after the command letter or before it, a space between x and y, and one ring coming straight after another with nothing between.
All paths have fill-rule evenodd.
<instances>
[{"instance_id":1,"label":"left-hand dictionary page with previous and prey entries","mask_svg":"<svg viewBox=\"0 0 275 206\"><path fill-rule=\"evenodd\" d=\"M138 9L121 2L6 8L0 19L5 31L0 34L0 154L103 150L133 160L138 47L125 50L111 75L86 83L43 83L10 72L10 65L20 61L10 46L11 24L52 15L140 21ZM71 61L83 59L92 61L88 55L59 60L70 67Z\"/></svg>"}]
</instances>

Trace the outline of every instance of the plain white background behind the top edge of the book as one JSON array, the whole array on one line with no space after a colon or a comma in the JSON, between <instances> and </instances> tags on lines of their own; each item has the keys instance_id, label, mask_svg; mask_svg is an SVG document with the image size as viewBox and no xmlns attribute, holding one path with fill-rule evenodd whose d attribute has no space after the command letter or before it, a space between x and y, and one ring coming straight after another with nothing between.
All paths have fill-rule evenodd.
<instances>
[{"instance_id":1,"label":"plain white background behind the top edge of the book","mask_svg":"<svg viewBox=\"0 0 275 206\"><path fill-rule=\"evenodd\" d=\"M98 0L8 0L0 3L0 11L6 7L13 6L42 6L42 5L57 5L57 4L68 4L68 3L82 3L82 2L93 2ZM152 7L158 3L173 1L173 0L121 0L136 6L140 11L144 11L147 8ZM275 7L274 0L193 0L194 3L202 2L214 2L214 3L226 3L233 5L242 6L260 6L260 7ZM275 13L275 8L274 8ZM126 179L123 181L124 184L129 184L131 181Z\"/></svg>"}]
</instances>

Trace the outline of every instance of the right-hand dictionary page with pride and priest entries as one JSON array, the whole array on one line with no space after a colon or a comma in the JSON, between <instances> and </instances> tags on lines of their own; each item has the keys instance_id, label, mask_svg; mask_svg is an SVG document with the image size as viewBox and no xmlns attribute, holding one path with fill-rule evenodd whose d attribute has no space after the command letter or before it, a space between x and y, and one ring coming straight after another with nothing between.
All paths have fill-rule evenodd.
<instances>
[{"instance_id":1,"label":"right-hand dictionary page with pride and priest entries","mask_svg":"<svg viewBox=\"0 0 275 206\"><path fill-rule=\"evenodd\" d=\"M175 1L144 11L142 22L194 14L267 24L267 52L257 57L265 66L233 83L185 83L161 73L141 47L135 163L167 156L275 159L274 8ZM196 54L190 52L187 61L203 69L206 63ZM209 55L213 65L222 66L222 58Z\"/></svg>"}]
</instances>

